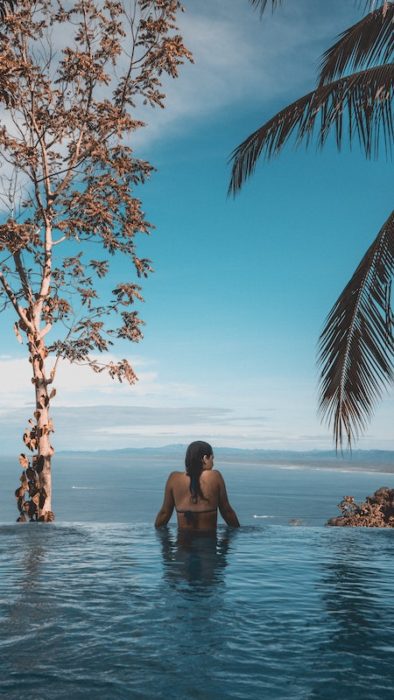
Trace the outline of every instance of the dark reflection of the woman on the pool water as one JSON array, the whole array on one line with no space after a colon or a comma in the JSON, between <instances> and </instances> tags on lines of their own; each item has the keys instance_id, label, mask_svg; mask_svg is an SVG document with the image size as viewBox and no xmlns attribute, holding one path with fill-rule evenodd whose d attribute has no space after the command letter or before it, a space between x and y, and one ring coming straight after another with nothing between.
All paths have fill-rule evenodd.
<instances>
[{"instance_id":1,"label":"dark reflection of the woman on the pool water","mask_svg":"<svg viewBox=\"0 0 394 700\"><path fill-rule=\"evenodd\" d=\"M187 583L194 589L223 584L227 554L235 532L230 528L220 533L158 530L165 580L175 587Z\"/></svg>"}]
</instances>

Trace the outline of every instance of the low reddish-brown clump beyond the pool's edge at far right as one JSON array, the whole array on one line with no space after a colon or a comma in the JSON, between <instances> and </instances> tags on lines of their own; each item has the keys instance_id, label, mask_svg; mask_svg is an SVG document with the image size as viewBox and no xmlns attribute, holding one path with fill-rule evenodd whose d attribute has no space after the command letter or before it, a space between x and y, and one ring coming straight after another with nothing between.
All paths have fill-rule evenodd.
<instances>
[{"instance_id":1,"label":"low reddish-brown clump beyond the pool's edge at far right","mask_svg":"<svg viewBox=\"0 0 394 700\"><path fill-rule=\"evenodd\" d=\"M345 496L338 504L342 515L330 518L327 525L339 527L394 527L394 489L387 486L356 503L353 496Z\"/></svg>"}]
</instances>

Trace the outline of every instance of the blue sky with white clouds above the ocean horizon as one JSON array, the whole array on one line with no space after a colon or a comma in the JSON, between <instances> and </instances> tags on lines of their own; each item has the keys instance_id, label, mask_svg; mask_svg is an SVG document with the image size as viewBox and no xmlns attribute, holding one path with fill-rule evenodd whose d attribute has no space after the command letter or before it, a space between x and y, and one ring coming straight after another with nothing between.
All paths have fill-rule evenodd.
<instances>
[{"instance_id":1,"label":"blue sky with white clouds above the ocean horizon","mask_svg":"<svg viewBox=\"0 0 394 700\"><path fill-rule=\"evenodd\" d=\"M232 150L314 85L322 52L360 17L352 0L287 0L262 20L247 0L186 0L194 64L166 81L165 110L141 113L134 148L157 168L138 192L156 229L138 345L119 344L139 381L119 385L60 366L55 449L188 443L330 449L317 414L324 319L390 213L392 164L291 146L227 197ZM119 270L124 277L126 268ZM32 412L25 348L0 319L3 453L23 449ZM393 396L362 449L394 449Z\"/></svg>"}]
</instances>

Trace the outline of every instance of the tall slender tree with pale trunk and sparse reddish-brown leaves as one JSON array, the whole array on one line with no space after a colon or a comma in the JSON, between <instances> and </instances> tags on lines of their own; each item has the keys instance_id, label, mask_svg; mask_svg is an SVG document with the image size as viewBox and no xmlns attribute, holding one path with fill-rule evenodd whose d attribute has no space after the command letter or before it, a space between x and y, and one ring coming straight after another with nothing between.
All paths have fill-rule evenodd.
<instances>
[{"instance_id":1,"label":"tall slender tree with pale trunk and sparse reddish-brown leaves","mask_svg":"<svg viewBox=\"0 0 394 700\"><path fill-rule=\"evenodd\" d=\"M136 380L126 359L98 355L115 339L142 338L136 280L151 265L136 236L152 226L135 190L153 168L130 144L143 126L139 107L163 107L162 76L176 78L191 60L175 24L180 9L178 0L132 0L128 9L117 0L19 0L2 18L0 303L15 313L35 395L23 436L31 461L20 456L20 520L54 517L50 406L59 360ZM121 257L130 273L108 294L102 280Z\"/></svg>"}]
</instances>

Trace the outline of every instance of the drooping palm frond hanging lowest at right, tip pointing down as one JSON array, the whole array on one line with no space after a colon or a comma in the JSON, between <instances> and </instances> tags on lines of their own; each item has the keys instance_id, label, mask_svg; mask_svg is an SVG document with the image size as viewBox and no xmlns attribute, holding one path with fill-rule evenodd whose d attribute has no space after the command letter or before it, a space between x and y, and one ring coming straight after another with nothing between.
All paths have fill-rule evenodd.
<instances>
[{"instance_id":1,"label":"drooping palm frond hanging lowest at right, tip pointing down","mask_svg":"<svg viewBox=\"0 0 394 700\"><path fill-rule=\"evenodd\" d=\"M394 211L334 304L319 341L320 411L351 446L392 382Z\"/></svg>"}]
</instances>

